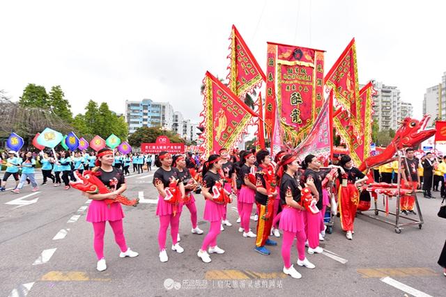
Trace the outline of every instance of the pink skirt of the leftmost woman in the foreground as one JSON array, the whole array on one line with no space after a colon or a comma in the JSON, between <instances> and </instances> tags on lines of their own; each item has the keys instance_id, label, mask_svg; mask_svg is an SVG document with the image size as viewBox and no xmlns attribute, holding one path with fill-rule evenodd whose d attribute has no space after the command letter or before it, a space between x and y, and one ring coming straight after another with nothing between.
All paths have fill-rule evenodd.
<instances>
[{"instance_id":1,"label":"pink skirt of the leftmost woman in the foreground","mask_svg":"<svg viewBox=\"0 0 446 297\"><path fill-rule=\"evenodd\" d=\"M107 220L122 220L124 217L121 203L114 202L107 206L102 200L91 200L86 221L91 223L105 222Z\"/></svg>"}]
</instances>

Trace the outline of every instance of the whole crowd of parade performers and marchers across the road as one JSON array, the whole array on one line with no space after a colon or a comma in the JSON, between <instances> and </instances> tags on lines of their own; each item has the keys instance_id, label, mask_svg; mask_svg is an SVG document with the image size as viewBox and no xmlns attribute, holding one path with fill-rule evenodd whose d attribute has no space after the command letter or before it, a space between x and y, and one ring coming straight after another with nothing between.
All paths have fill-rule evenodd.
<instances>
[{"instance_id":1,"label":"whole crowd of parade performers and marchers across the road","mask_svg":"<svg viewBox=\"0 0 446 297\"><path fill-rule=\"evenodd\" d=\"M125 175L130 174L131 165L133 172L142 173L144 170L151 171L154 163L157 170L153 175L153 185L159 194L156 215L160 220L157 239L161 262L169 260L166 247L169 227L173 243L171 250L184 252L178 234L184 207L190 212L191 233L204 233L197 225L197 198L194 197L194 194L201 194L206 200L203 219L210 223L201 246L197 246L197 257L202 262L211 262L210 254L225 252L217 245L217 239L225 227L233 226L226 213L227 205L234 203L238 211L236 223L240 224L238 232L243 238L255 238L254 251L270 255L268 247L277 246L277 241L271 238L282 237L283 272L292 278L302 277L291 262L294 239L297 239L296 264L315 268L305 257L305 247L309 254L323 252L319 243L325 238L327 214L330 217L330 213L339 209L341 228L346 239L352 240L357 205L364 194L369 195L367 191L360 191L362 184L369 178L376 182L397 182L395 178L399 170L398 162L387 163L374 170L374 177L367 177L353 166L348 155L335 155L329 164L325 164L327 166L322 167L321 158L312 154L300 161L297 156L284 151L270 156L267 150L229 152L226 149L220 150L219 154L210 154L206 160L195 153L174 156L169 152L121 155L108 148L90 154L65 150L56 152L56 155L8 151L1 155L1 163L6 166L1 191L6 190L6 182L11 176L15 179L13 193L20 193L26 182L31 184L31 191L38 191L34 177L38 163L43 174L42 184L51 180L54 186L61 186L63 182L64 190L69 190L70 181L75 181L74 171L82 174L84 170L93 170L103 184L110 188L114 186L115 190L110 193L86 194L92 200L86 220L93 225L98 271L107 268L103 252L107 221L121 249L120 257L138 255L125 243L121 204L107 206L104 200L114 200L127 189ZM446 156L434 158L433 154L428 153L419 160L414 156L414 150L409 148L401 166L401 183L414 188L422 187L424 198L433 198L432 188L445 197ZM415 214L414 202L414 196L401 198L401 213ZM332 211L334 208L336 211ZM251 225L251 220L256 221L256 226ZM444 262L444 256L440 261ZM446 266L440 261L440 265Z\"/></svg>"}]
</instances>

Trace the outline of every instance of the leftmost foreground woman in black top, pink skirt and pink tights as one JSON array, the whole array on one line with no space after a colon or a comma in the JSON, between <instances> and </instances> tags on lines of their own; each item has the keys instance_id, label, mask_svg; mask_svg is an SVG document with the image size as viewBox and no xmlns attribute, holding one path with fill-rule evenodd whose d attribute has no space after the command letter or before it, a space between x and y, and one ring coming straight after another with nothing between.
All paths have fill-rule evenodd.
<instances>
[{"instance_id":1,"label":"leftmost foreground woman in black top, pink skirt and pink tights","mask_svg":"<svg viewBox=\"0 0 446 297\"><path fill-rule=\"evenodd\" d=\"M93 230L95 233L94 249L98 257L98 264L96 269L98 271L105 271L107 264L104 257L104 234L105 222L109 222L114 233L114 239L121 249L119 257L137 257L138 253L130 250L125 243L123 231L123 209L121 203L114 202L107 207L105 199L114 199L117 195L123 193L127 189L125 178L121 169L112 167L114 161L113 152L109 148L103 148L98 152L98 159L95 165L98 166L93 171L100 172L98 178L106 186L112 187L114 184L115 190L107 194L87 194L91 201L89 211L86 215L87 222L93 223Z\"/></svg>"}]
</instances>

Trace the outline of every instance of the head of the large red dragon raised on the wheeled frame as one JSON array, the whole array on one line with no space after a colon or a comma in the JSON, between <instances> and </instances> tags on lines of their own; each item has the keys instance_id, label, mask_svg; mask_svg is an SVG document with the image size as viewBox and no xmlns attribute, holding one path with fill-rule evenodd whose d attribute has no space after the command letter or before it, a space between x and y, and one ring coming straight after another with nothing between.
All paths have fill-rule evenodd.
<instances>
[{"instance_id":1,"label":"head of the large red dragon raised on the wheeled frame","mask_svg":"<svg viewBox=\"0 0 446 297\"><path fill-rule=\"evenodd\" d=\"M397 133L395 133L394 143L397 145L397 148L401 150L406 147L416 147L422 141L433 136L436 129L424 130L429 118L431 118L430 115L424 115L420 121L413 118L405 118Z\"/></svg>"}]
</instances>

